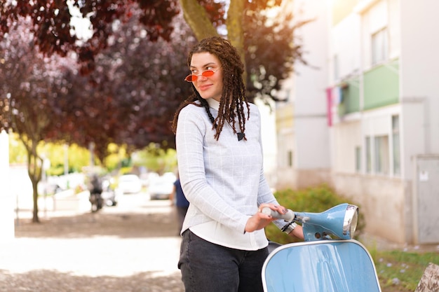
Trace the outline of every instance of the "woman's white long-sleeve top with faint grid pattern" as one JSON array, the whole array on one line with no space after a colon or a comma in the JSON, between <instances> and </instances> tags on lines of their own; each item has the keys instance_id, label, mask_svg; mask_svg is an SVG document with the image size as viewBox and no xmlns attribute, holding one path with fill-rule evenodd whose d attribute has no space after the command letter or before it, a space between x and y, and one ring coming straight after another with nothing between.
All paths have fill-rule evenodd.
<instances>
[{"instance_id":1,"label":"woman's white long-sleeve top with faint grid pattern","mask_svg":"<svg viewBox=\"0 0 439 292\"><path fill-rule=\"evenodd\" d=\"M219 102L208 99L212 116ZM238 141L225 124L218 141L205 109L189 104L178 116L176 146L180 181L190 205L182 232L234 249L267 246L264 230L244 232L261 203L275 203L264 178L259 110L250 104L245 137ZM283 225L276 222L276 225Z\"/></svg>"}]
</instances>

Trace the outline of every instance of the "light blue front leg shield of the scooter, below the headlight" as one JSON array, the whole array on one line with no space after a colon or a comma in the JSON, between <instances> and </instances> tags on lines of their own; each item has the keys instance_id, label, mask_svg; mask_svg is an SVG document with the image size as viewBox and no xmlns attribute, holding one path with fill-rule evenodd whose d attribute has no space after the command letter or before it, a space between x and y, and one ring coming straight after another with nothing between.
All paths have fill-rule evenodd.
<instances>
[{"instance_id":1,"label":"light blue front leg shield of the scooter, below the headlight","mask_svg":"<svg viewBox=\"0 0 439 292\"><path fill-rule=\"evenodd\" d=\"M262 283L265 292L381 292L370 253L353 239L280 246L262 267Z\"/></svg>"}]
</instances>

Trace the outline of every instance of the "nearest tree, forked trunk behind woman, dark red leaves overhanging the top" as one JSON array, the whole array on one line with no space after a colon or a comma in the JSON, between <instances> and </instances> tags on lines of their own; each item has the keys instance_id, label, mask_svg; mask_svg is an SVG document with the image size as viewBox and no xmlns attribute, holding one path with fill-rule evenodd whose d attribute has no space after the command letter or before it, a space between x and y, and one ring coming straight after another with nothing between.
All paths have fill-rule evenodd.
<instances>
[{"instance_id":1,"label":"nearest tree, forked trunk behind woman, dark red leaves overhanging the top","mask_svg":"<svg viewBox=\"0 0 439 292\"><path fill-rule=\"evenodd\" d=\"M276 99L276 89L291 73L292 62L304 62L302 48L294 33L307 21L296 21L291 25L293 15L288 12L291 11L288 0L72 0L71 7L68 2L4 1L0 6L0 39L18 15L28 16L32 19L32 31L41 52L66 55L75 51L82 64L81 72L88 74L95 69L95 56L109 46L114 21L127 22L140 13L137 19L144 25L147 39L169 41L175 29L173 19L182 9L196 39L227 34L241 52L247 69L245 81L249 86L250 101L255 95ZM275 11L279 7L278 15L269 20L266 11ZM79 41L76 34L71 34L74 32L70 25L74 8L81 11L83 18L90 19L93 36L86 41Z\"/></svg>"}]
</instances>

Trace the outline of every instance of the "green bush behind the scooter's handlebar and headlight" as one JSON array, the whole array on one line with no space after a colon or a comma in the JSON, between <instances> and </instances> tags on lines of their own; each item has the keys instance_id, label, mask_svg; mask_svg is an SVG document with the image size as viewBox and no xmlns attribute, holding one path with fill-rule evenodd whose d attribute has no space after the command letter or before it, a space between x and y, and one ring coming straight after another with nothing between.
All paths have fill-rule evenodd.
<instances>
[{"instance_id":1,"label":"green bush behind the scooter's handlebar and headlight","mask_svg":"<svg viewBox=\"0 0 439 292\"><path fill-rule=\"evenodd\" d=\"M358 204L351 202L348 198L337 195L337 193L326 185L306 188L304 190L280 190L274 195L279 204L288 209L292 209L293 211L318 213L342 203L355 204L358 206ZM356 236L358 236L364 228L365 222L360 212L358 216ZM273 242L281 244L295 242L294 238L281 232L274 224L268 225L265 228L265 233Z\"/></svg>"}]
</instances>

